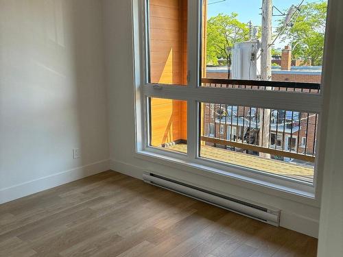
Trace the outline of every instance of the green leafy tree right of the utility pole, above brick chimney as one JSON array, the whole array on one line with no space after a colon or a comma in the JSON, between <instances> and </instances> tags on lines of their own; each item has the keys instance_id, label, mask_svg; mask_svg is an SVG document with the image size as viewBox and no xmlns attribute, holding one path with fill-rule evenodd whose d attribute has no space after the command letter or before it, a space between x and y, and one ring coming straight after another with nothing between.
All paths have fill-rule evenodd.
<instances>
[{"instance_id":1,"label":"green leafy tree right of the utility pole, above brick chimney","mask_svg":"<svg viewBox=\"0 0 343 257\"><path fill-rule=\"evenodd\" d=\"M327 19L327 1L306 3L300 7L300 14L294 15L291 25L282 34L282 41L292 45L293 58L311 60L311 65L321 65L324 51L324 34ZM279 21L281 32L283 21Z\"/></svg>"}]
</instances>

